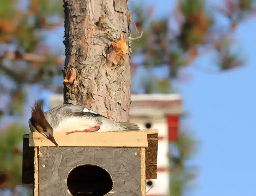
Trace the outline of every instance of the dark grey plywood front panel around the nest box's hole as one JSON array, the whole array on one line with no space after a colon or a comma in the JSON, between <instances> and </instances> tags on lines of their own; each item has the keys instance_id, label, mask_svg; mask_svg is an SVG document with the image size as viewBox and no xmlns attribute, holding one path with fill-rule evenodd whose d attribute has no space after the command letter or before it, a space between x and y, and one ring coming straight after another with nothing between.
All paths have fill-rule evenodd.
<instances>
[{"instance_id":1,"label":"dark grey plywood front panel around the nest box's hole","mask_svg":"<svg viewBox=\"0 0 256 196\"><path fill-rule=\"evenodd\" d=\"M83 164L98 165L108 171L114 186L107 195L141 195L140 151L140 148L41 147L39 196L70 196L68 173Z\"/></svg>"}]
</instances>

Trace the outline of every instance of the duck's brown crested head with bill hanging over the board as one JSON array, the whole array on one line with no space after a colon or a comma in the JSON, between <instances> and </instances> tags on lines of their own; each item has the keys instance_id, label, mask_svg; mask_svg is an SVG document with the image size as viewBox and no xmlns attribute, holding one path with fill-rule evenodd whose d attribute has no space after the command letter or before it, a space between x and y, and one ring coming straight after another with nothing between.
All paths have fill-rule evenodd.
<instances>
[{"instance_id":1,"label":"duck's brown crested head with bill hanging over the board","mask_svg":"<svg viewBox=\"0 0 256 196\"><path fill-rule=\"evenodd\" d=\"M53 137L53 128L45 118L41 101L36 101L36 103L31 107L31 118L29 121L32 126L30 126L31 131L38 131L56 146L59 146Z\"/></svg>"}]
</instances>

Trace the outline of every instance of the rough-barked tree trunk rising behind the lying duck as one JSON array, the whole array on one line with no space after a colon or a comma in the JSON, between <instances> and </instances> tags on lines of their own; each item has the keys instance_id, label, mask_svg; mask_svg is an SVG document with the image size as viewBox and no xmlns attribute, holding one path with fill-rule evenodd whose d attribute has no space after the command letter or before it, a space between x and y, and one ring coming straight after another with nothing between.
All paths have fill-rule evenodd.
<instances>
[{"instance_id":1,"label":"rough-barked tree trunk rising behind the lying duck","mask_svg":"<svg viewBox=\"0 0 256 196\"><path fill-rule=\"evenodd\" d=\"M126 0L63 0L66 60L64 103L85 106L116 121L129 121L130 22ZM108 33L106 33L108 32ZM127 51L111 62L112 37L123 34ZM108 44L106 44L108 43ZM109 45L109 46L108 46Z\"/></svg>"}]
</instances>

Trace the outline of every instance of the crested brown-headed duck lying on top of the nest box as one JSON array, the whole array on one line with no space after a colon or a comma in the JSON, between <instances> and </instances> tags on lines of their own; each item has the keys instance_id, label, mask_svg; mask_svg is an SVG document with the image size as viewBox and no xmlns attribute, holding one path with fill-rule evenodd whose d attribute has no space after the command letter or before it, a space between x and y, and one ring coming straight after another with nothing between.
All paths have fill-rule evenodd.
<instances>
[{"instance_id":1,"label":"crested brown-headed duck lying on top of the nest box","mask_svg":"<svg viewBox=\"0 0 256 196\"><path fill-rule=\"evenodd\" d=\"M57 147L54 133L66 132L112 132L123 130L140 130L132 122L117 122L91 109L73 104L61 104L43 112L42 101L36 101L31 107L28 120L31 132L39 132Z\"/></svg>"}]
</instances>

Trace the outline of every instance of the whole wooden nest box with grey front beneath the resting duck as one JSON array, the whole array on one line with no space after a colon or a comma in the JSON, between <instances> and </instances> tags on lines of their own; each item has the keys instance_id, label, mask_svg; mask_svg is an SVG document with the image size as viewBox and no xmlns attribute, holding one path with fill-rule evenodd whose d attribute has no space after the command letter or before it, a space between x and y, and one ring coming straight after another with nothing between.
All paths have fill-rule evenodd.
<instances>
[{"instance_id":1,"label":"whole wooden nest box with grey front beneath the resting duck","mask_svg":"<svg viewBox=\"0 0 256 196\"><path fill-rule=\"evenodd\" d=\"M146 195L156 179L158 130L23 137L22 182L35 196Z\"/></svg>"}]
</instances>

